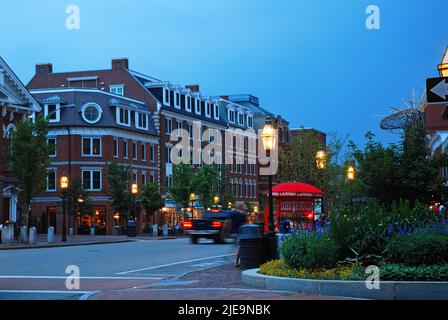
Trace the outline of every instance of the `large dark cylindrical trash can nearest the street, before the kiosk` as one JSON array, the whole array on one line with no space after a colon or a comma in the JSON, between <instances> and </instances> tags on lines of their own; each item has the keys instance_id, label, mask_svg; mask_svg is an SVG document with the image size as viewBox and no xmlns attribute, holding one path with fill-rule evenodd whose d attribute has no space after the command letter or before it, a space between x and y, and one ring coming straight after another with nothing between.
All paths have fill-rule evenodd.
<instances>
[{"instance_id":1,"label":"large dark cylindrical trash can nearest the street, before the kiosk","mask_svg":"<svg viewBox=\"0 0 448 320\"><path fill-rule=\"evenodd\" d=\"M266 260L266 246L257 225L243 225L240 228L241 270L259 268Z\"/></svg>"}]
</instances>

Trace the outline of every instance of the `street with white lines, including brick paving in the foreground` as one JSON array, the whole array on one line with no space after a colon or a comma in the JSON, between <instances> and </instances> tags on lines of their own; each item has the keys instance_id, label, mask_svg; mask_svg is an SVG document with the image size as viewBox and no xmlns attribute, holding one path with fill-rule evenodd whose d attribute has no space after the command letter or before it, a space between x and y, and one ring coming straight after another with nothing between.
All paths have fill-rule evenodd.
<instances>
[{"instance_id":1,"label":"street with white lines, including brick paving in the foreground","mask_svg":"<svg viewBox=\"0 0 448 320\"><path fill-rule=\"evenodd\" d=\"M186 238L0 251L0 300L328 299L245 286L235 252ZM75 290L66 286L71 265L80 271Z\"/></svg>"}]
</instances>

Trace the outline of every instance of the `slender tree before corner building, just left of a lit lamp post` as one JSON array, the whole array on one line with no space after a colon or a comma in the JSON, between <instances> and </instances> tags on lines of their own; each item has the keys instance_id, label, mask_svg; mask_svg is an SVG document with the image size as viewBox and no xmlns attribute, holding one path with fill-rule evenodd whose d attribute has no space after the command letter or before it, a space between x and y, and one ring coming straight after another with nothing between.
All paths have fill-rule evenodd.
<instances>
[{"instance_id":1,"label":"slender tree before corner building, just left of a lit lamp post","mask_svg":"<svg viewBox=\"0 0 448 320\"><path fill-rule=\"evenodd\" d=\"M107 164L109 183L108 194L112 198L112 207L120 213L121 223L129 216L132 205L132 194L129 188L130 166L120 165L117 161Z\"/></svg>"}]
</instances>

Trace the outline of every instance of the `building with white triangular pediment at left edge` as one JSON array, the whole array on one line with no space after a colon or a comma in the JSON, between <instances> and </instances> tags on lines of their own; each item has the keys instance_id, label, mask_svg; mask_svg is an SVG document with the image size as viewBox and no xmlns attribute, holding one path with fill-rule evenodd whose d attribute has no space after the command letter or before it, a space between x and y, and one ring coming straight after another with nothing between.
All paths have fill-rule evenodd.
<instances>
[{"instance_id":1,"label":"building with white triangular pediment at left edge","mask_svg":"<svg viewBox=\"0 0 448 320\"><path fill-rule=\"evenodd\" d=\"M40 110L39 103L0 58L0 224L7 221L16 222L20 218L20 206L15 191L16 180L4 159L8 140L18 121L34 117Z\"/></svg>"}]
</instances>

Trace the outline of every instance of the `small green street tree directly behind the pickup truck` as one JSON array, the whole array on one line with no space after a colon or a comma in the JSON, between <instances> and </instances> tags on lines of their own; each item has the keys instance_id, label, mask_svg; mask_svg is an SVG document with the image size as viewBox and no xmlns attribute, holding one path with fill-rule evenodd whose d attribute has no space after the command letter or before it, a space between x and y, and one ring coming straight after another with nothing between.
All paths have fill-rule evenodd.
<instances>
[{"instance_id":1,"label":"small green street tree directly behind the pickup truck","mask_svg":"<svg viewBox=\"0 0 448 320\"><path fill-rule=\"evenodd\" d=\"M212 165L202 166L193 178L193 188L204 209L210 208L219 195L219 172Z\"/></svg>"}]
</instances>

